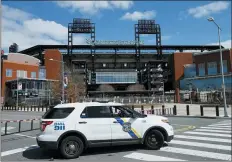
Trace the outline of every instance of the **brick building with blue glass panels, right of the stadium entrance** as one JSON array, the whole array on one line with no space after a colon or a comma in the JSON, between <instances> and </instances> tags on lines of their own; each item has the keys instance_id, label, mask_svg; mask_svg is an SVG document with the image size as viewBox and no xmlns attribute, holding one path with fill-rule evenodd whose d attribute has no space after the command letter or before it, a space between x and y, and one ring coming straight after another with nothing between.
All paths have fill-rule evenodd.
<instances>
[{"instance_id":1,"label":"brick building with blue glass panels, right of the stadium entrance","mask_svg":"<svg viewBox=\"0 0 232 162\"><path fill-rule=\"evenodd\" d=\"M174 84L176 102L180 102L180 89L193 91L222 91L220 50L199 53L175 53ZM228 98L232 85L232 50L222 50L223 71ZM231 99L230 99L231 100Z\"/></svg>"}]
</instances>

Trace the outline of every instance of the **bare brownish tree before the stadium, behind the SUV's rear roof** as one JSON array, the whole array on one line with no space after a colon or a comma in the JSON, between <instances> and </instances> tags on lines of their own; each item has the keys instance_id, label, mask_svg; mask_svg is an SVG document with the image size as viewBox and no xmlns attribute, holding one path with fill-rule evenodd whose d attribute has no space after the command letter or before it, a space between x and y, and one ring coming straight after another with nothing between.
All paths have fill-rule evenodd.
<instances>
[{"instance_id":1,"label":"bare brownish tree before the stadium, behind the SUV's rear roof","mask_svg":"<svg viewBox=\"0 0 232 162\"><path fill-rule=\"evenodd\" d=\"M65 100L68 102L77 102L80 96L84 96L86 92L86 85L84 82L84 74L72 72L71 69L65 65L64 71L67 74L68 84L65 87ZM61 101L62 98L62 82L61 73L57 75L57 81L51 84L51 97L54 101Z\"/></svg>"}]
</instances>

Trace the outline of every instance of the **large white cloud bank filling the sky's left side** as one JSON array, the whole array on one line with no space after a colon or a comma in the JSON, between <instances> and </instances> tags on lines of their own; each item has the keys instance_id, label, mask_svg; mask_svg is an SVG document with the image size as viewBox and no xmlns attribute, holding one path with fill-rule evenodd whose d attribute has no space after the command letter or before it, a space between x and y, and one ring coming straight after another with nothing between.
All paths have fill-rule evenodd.
<instances>
[{"instance_id":1,"label":"large white cloud bank filling the sky's left side","mask_svg":"<svg viewBox=\"0 0 232 162\"><path fill-rule=\"evenodd\" d=\"M67 27L55 22L36 18L30 13L3 5L2 48L8 51L12 43L19 50L43 44L67 44ZM85 37L74 38L75 44L85 44Z\"/></svg>"}]
</instances>

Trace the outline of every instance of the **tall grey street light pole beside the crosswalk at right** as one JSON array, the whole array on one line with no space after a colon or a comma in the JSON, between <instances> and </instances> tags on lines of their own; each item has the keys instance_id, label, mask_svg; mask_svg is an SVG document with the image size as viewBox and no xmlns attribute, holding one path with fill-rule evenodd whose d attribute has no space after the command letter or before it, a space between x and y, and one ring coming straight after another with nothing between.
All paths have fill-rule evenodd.
<instances>
[{"instance_id":1,"label":"tall grey street light pole beside the crosswalk at right","mask_svg":"<svg viewBox=\"0 0 232 162\"><path fill-rule=\"evenodd\" d=\"M227 113L227 105L226 105L226 91L225 91L225 80L224 80L224 71L223 71L223 61L222 61L222 48L221 48L221 38L220 38L220 32L221 28L220 26L214 21L213 17L210 17L207 19L210 22L213 22L217 28L218 28L218 39L219 39L219 48L220 48L220 62L221 62L221 73L222 73L222 89L223 89L223 98L224 98L224 116L228 117Z\"/></svg>"}]
</instances>

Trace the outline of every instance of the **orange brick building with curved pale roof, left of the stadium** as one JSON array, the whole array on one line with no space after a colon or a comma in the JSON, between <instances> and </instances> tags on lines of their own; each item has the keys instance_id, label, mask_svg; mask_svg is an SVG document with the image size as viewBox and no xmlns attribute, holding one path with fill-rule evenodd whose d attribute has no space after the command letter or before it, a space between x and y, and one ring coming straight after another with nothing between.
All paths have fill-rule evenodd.
<instances>
[{"instance_id":1,"label":"orange brick building with curved pale roof, left of the stadium","mask_svg":"<svg viewBox=\"0 0 232 162\"><path fill-rule=\"evenodd\" d=\"M44 52L44 66L36 57L9 53L2 57L1 96L3 103L38 104L48 100L50 81L59 80L61 54L58 50ZM50 60L50 59L53 59ZM17 91L18 86L18 91Z\"/></svg>"}]
</instances>

